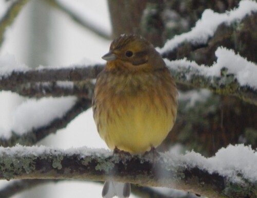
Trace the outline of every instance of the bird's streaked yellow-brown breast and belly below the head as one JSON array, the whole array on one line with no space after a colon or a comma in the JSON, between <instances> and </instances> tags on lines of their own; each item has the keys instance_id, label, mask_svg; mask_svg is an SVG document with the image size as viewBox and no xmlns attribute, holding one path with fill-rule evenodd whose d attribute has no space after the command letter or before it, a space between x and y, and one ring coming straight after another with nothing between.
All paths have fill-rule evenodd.
<instances>
[{"instance_id":1,"label":"bird's streaked yellow-brown breast and belly below the head","mask_svg":"<svg viewBox=\"0 0 257 198\"><path fill-rule=\"evenodd\" d=\"M159 146L176 117L175 85L169 74L105 75L97 81L103 88L95 90L94 118L107 146L131 153Z\"/></svg>"}]
</instances>

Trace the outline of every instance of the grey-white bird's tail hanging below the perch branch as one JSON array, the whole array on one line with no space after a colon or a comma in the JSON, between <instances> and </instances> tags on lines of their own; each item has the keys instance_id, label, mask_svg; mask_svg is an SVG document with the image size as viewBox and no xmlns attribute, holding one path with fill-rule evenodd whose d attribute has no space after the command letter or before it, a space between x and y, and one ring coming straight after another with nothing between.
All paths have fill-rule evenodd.
<instances>
[{"instance_id":1,"label":"grey-white bird's tail hanging below the perch branch","mask_svg":"<svg viewBox=\"0 0 257 198\"><path fill-rule=\"evenodd\" d=\"M105 182L103 186L103 198L112 198L114 196L119 198L127 198L130 196L130 183L121 182Z\"/></svg>"}]
</instances>

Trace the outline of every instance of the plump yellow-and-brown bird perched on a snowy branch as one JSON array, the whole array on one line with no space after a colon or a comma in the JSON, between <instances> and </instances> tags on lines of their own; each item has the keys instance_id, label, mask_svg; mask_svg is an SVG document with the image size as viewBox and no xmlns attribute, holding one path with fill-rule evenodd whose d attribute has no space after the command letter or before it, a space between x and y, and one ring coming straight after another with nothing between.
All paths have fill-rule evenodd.
<instances>
[{"instance_id":1,"label":"plump yellow-and-brown bird perched on a snowy branch","mask_svg":"<svg viewBox=\"0 0 257 198\"><path fill-rule=\"evenodd\" d=\"M137 34L121 34L102 59L93 117L109 149L139 154L158 147L173 128L177 88L155 47ZM105 182L102 196L130 196L129 183Z\"/></svg>"}]
</instances>

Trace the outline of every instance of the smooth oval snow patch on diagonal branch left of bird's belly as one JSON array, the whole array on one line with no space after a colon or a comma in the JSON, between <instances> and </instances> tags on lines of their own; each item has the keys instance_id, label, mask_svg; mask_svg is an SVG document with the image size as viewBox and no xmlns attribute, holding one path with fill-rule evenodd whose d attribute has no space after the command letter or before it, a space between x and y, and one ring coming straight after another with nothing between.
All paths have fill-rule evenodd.
<instances>
[{"instance_id":1,"label":"smooth oval snow patch on diagonal branch left of bird's belly","mask_svg":"<svg viewBox=\"0 0 257 198\"><path fill-rule=\"evenodd\" d=\"M76 97L42 98L28 100L13 114L10 131L23 134L43 127L56 118L61 118L76 102Z\"/></svg>"}]
</instances>

